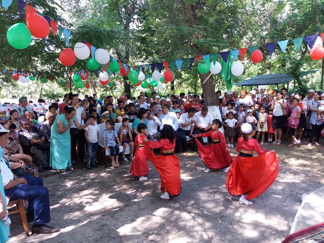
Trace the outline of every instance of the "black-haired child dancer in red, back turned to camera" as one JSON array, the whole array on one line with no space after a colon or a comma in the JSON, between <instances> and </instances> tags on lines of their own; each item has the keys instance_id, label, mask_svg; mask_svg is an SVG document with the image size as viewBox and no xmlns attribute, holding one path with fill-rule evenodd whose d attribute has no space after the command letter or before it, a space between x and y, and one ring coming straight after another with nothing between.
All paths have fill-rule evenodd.
<instances>
[{"instance_id":1,"label":"black-haired child dancer in red, back turned to camera","mask_svg":"<svg viewBox=\"0 0 324 243\"><path fill-rule=\"evenodd\" d=\"M152 161L161 177L161 191L165 192L160 197L170 199L170 195L177 196L181 192L179 159L174 153L176 146L176 133L172 126L164 125L160 131L160 141L153 142L144 138L148 158ZM160 155L155 156L150 148L160 148ZM170 195L169 195L170 194Z\"/></svg>"}]
</instances>

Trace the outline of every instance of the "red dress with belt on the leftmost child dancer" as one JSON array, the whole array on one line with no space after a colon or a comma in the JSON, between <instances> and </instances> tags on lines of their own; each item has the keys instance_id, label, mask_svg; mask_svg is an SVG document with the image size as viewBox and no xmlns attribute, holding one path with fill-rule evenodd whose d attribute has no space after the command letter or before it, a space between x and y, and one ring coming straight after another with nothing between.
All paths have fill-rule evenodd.
<instances>
[{"instance_id":1,"label":"red dress with belt on the leftmost child dancer","mask_svg":"<svg viewBox=\"0 0 324 243\"><path fill-rule=\"evenodd\" d=\"M144 138L146 138L145 135L139 134L136 136L134 143L136 151L130 173L137 177L147 176L149 171L147 165L147 155L144 148Z\"/></svg>"}]
</instances>

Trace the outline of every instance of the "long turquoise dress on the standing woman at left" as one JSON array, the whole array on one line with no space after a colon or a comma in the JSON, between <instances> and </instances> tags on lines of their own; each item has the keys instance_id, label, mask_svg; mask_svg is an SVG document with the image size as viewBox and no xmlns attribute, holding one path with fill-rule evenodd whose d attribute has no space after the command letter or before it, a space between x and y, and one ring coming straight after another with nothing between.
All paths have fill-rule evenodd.
<instances>
[{"instance_id":1,"label":"long turquoise dress on the standing woman at left","mask_svg":"<svg viewBox=\"0 0 324 243\"><path fill-rule=\"evenodd\" d=\"M70 119L74 122L76 116ZM52 125L51 129L51 153L50 153L50 167L57 170L65 170L71 166L71 137L70 128L63 134L59 134L57 121L63 123L63 128L68 126L65 119L65 114L58 115Z\"/></svg>"}]
</instances>

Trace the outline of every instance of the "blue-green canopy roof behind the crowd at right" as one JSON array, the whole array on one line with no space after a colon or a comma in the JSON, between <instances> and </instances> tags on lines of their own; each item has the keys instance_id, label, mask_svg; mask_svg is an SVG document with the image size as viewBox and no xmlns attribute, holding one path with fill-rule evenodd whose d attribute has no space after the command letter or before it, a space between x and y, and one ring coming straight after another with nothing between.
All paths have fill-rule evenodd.
<instances>
[{"instance_id":1,"label":"blue-green canopy roof behind the crowd at right","mask_svg":"<svg viewBox=\"0 0 324 243\"><path fill-rule=\"evenodd\" d=\"M314 73L317 70L312 71L303 71L299 76L305 76L310 73ZM240 85L243 89L244 86L251 86L251 90L253 86L266 86L266 85L276 85L277 90L279 90L279 84L287 83L287 90L289 90L289 82L294 80L294 77L289 73L270 73L270 74L262 74L256 77L252 77L241 81L235 85ZM295 92L295 82L294 82L294 92Z\"/></svg>"}]
</instances>

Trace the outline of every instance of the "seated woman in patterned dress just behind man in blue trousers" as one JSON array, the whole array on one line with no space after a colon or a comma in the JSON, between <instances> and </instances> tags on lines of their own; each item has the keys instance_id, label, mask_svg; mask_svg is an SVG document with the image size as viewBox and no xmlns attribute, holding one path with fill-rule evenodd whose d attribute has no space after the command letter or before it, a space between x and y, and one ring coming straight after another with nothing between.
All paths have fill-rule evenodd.
<instances>
[{"instance_id":1,"label":"seated woman in patterned dress just behind man in blue trousers","mask_svg":"<svg viewBox=\"0 0 324 243\"><path fill-rule=\"evenodd\" d=\"M17 176L34 176L38 177L38 169L32 163L32 158L28 154L24 154L22 147L19 143L17 143L12 137L7 135L7 143L3 148L3 151L8 154L10 160L17 160L18 163L11 163L10 168L14 174L18 174ZM19 161L20 160L20 161ZM22 160L22 161L21 161ZM22 168L21 170L15 170L17 168ZM22 173L22 174L19 174Z\"/></svg>"}]
</instances>

